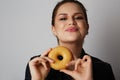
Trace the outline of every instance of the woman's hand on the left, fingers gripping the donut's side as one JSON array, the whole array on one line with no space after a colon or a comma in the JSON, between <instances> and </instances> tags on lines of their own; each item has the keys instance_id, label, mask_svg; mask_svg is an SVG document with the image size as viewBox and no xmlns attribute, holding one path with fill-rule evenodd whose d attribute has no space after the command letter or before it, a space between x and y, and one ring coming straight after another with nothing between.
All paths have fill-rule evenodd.
<instances>
[{"instance_id":1,"label":"woman's hand on the left, fingers gripping the donut's side","mask_svg":"<svg viewBox=\"0 0 120 80\"><path fill-rule=\"evenodd\" d=\"M29 62L32 80L45 80L47 77L50 71L49 63L53 62L53 60L47 57L50 51L51 49L44 52L40 57L36 57Z\"/></svg>"}]
</instances>

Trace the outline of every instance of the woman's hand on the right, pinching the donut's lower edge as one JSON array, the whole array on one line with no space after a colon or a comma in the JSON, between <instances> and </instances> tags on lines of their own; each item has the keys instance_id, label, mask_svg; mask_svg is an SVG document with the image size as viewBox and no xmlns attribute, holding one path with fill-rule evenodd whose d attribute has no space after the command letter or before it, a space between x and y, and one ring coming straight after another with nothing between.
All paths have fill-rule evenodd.
<instances>
[{"instance_id":1,"label":"woman's hand on the right, pinching the donut's lower edge","mask_svg":"<svg viewBox=\"0 0 120 80\"><path fill-rule=\"evenodd\" d=\"M72 76L75 80L93 80L90 56L85 55L83 59L71 61L67 66L68 69L61 70L61 72ZM73 67L72 70L70 69L71 67Z\"/></svg>"}]
</instances>

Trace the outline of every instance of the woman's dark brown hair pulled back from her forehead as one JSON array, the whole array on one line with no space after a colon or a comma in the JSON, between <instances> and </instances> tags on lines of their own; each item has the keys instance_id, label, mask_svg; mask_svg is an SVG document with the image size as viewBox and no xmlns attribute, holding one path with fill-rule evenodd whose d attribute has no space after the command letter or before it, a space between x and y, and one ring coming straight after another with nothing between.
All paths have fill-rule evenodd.
<instances>
[{"instance_id":1,"label":"woman's dark brown hair pulled back from her forehead","mask_svg":"<svg viewBox=\"0 0 120 80\"><path fill-rule=\"evenodd\" d=\"M68 2L75 3L75 4L77 4L77 5L79 5L79 6L81 7L81 9L82 9L82 11L83 11L83 13L84 13L84 15L85 15L85 20L86 20L86 22L88 23L86 8L84 7L84 5L83 5L81 2L79 2L79 1L77 1L77 0L62 0L62 1L58 2L58 3L56 4L55 8L53 9L51 25L54 26L54 24L55 24L55 16L56 16L56 14L57 14L57 10L59 9L59 7L60 7L61 5L63 5L63 4L65 4L65 3L68 3Z\"/></svg>"}]
</instances>

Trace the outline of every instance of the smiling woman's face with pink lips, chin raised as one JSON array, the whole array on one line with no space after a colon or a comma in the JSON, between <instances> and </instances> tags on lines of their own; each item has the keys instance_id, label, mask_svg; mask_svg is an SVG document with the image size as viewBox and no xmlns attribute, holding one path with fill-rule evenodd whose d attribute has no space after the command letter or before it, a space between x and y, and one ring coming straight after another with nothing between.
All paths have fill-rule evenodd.
<instances>
[{"instance_id":1,"label":"smiling woman's face with pink lips, chin raised","mask_svg":"<svg viewBox=\"0 0 120 80\"><path fill-rule=\"evenodd\" d=\"M52 31L61 42L82 42L88 33L82 9L75 3L61 5L55 16L55 25Z\"/></svg>"}]
</instances>

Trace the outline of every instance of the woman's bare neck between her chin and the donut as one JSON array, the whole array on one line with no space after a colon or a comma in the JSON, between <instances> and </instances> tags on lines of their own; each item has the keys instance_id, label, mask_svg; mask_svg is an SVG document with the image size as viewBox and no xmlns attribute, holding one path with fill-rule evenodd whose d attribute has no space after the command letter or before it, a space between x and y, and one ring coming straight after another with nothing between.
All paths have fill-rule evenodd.
<instances>
[{"instance_id":1,"label":"woman's bare neck between her chin and the donut","mask_svg":"<svg viewBox=\"0 0 120 80\"><path fill-rule=\"evenodd\" d=\"M73 55L73 59L80 58L82 44L81 43L60 43L61 46L67 47Z\"/></svg>"}]
</instances>

